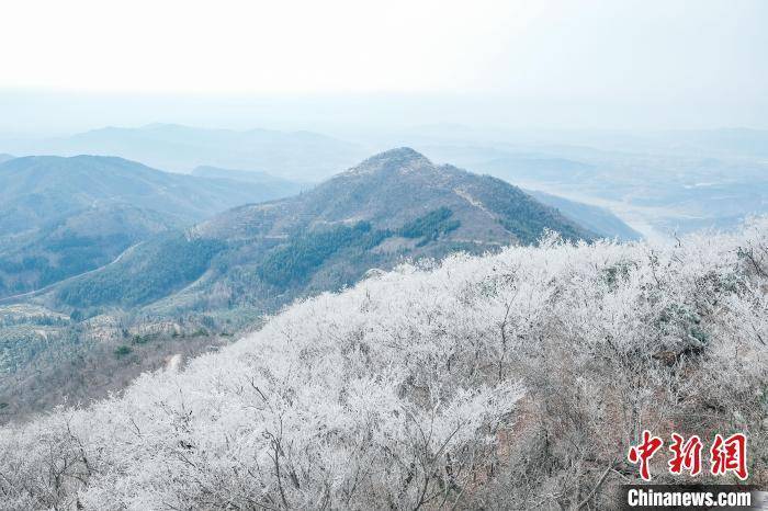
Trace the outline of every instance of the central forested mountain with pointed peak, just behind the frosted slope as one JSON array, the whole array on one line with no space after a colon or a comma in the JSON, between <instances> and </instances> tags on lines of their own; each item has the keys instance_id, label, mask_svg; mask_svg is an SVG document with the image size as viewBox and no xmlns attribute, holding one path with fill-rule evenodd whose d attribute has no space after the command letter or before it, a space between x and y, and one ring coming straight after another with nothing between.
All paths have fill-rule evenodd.
<instances>
[{"instance_id":1,"label":"central forested mountain with pointed peak, just behind the frosted slope","mask_svg":"<svg viewBox=\"0 0 768 511\"><path fill-rule=\"evenodd\" d=\"M438 167L400 148L298 195L219 214L166 249L149 243L109 271L67 283L49 299L88 308L167 297L166 305L177 310L182 303L207 311L224 304L271 310L298 296L353 284L369 269L392 268L403 258L532 243L546 229L569 240L596 237L504 181ZM201 249L202 259L191 257L197 253L193 245L210 250ZM163 261L173 261L185 277L158 274L168 268ZM182 287L184 296L174 296ZM218 306L211 303L214 288Z\"/></svg>"}]
</instances>

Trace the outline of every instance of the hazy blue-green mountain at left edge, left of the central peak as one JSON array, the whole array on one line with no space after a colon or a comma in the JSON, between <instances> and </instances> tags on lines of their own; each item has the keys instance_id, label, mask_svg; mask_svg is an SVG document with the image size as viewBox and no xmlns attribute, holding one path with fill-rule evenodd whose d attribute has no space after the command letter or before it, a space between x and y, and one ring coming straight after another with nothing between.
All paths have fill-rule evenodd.
<instances>
[{"instance_id":1,"label":"hazy blue-green mountain at left edge, left of the central peak","mask_svg":"<svg viewBox=\"0 0 768 511\"><path fill-rule=\"evenodd\" d=\"M114 157L7 160L0 163L0 298L99 268L159 232L298 188L264 181L172 174Z\"/></svg>"}]
</instances>

